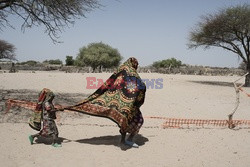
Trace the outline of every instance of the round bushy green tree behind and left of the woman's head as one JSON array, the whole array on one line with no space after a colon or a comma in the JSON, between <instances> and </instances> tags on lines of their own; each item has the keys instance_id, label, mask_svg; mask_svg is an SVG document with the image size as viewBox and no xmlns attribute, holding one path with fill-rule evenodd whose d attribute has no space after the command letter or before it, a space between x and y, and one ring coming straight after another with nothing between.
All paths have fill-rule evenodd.
<instances>
[{"instance_id":1,"label":"round bushy green tree behind and left of the woman's head","mask_svg":"<svg viewBox=\"0 0 250 167\"><path fill-rule=\"evenodd\" d=\"M76 57L76 65L88 65L93 68L93 71L99 67L100 71L102 67L117 67L121 60L122 56L117 49L99 42L90 43L87 47L81 48L78 56Z\"/></svg>"}]
</instances>

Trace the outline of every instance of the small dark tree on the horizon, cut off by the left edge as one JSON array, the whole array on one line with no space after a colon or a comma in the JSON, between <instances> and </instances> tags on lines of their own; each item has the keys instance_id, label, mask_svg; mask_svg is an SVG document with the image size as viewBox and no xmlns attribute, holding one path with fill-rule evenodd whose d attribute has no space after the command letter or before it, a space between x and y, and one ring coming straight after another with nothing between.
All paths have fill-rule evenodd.
<instances>
[{"instance_id":1,"label":"small dark tree on the horizon, cut off by the left edge","mask_svg":"<svg viewBox=\"0 0 250 167\"><path fill-rule=\"evenodd\" d=\"M14 45L4 40L0 40L0 59L16 60L15 50L16 48Z\"/></svg>"}]
</instances>

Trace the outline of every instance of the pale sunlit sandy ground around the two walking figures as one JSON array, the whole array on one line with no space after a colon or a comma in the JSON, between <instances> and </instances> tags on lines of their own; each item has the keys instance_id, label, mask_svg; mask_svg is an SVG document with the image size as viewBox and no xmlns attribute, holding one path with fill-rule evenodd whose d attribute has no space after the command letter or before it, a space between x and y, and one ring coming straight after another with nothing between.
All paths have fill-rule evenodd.
<instances>
[{"instance_id":1,"label":"pale sunlit sandy ground around the two walking figures","mask_svg":"<svg viewBox=\"0 0 250 167\"><path fill-rule=\"evenodd\" d=\"M106 80L110 74L72 74L61 72L0 73L0 89L40 91L47 87L56 95L86 95L87 77ZM135 142L139 148L120 147L119 129L108 119L79 116L65 112L57 121L61 148L39 139L30 145L28 135L35 133L27 123L4 121L0 124L0 166L188 166L248 167L250 129L226 127L163 129L164 120L150 116L190 119L227 119L235 105L232 82L239 76L194 76L140 74L147 84L141 110L145 122ZM243 81L241 81L243 82ZM94 82L97 84L97 82ZM160 87L159 87L160 86ZM244 89L250 93L249 88ZM2 92L0 92L2 94ZM1 102L5 101L2 98ZM250 120L250 98L240 94L234 119ZM4 112L4 108L0 108ZM67 117L68 116L68 117Z\"/></svg>"}]
</instances>

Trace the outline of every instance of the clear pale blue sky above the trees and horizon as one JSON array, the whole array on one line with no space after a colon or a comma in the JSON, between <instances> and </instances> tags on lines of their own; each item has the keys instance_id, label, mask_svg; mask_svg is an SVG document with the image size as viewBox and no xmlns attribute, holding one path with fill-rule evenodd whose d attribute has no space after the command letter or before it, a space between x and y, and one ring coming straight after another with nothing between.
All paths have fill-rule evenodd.
<instances>
[{"instance_id":1,"label":"clear pale blue sky above the trees and horizon","mask_svg":"<svg viewBox=\"0 0 250 167\"><path fill-rule=\"evenodd\" d=\"M44 61L73 58L79 49L93 42L103 42L118 49L123 61L136 57L140 66L176 58L183 64L212 67L238 67L241 59L222 48L188 49L190 31L201 16L225 7L250 4L250 0L100 0L103 5L77 19L59 33L53 43L44 27L21 30L23 21L9 17L15 29L6 27L0 39L16 47L18 61Z\"/></svg>"}]
</instances>

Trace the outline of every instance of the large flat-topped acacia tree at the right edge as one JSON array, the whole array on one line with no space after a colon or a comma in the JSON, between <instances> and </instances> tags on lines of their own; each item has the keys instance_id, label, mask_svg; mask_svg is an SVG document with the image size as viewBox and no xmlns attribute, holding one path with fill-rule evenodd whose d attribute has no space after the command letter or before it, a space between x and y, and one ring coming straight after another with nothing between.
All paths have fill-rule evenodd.
<instances>
[{"instance_id":1,"label":"large flat-topped acacia tree at the right edge","mask_svg":"<svg viewBox=\"0 0 250 167\"><path fill-rule=\"evenodd\" d=\"M221 9L203 16L196 29L190 32L189 48L219 47L238 55L250 73L250 5ZM250 74L245 78L250 87Z\"/></svg>"}]
</instances>

